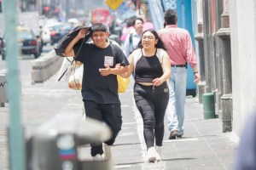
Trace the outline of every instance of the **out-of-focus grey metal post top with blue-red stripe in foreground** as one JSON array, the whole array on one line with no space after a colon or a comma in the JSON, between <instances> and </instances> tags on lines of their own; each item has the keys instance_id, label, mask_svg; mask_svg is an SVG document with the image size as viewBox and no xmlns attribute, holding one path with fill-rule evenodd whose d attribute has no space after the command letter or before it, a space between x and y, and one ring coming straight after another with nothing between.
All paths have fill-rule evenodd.
<instances>
[{"instance_id":1,"label":"out-of-focus grey metal post top with blue-red stripe in foreground","mask_svg":"<svg viewBox=\"0 0 256 170\"><path fill-rule=\"evenodd\" d=\"M77 151L80 145L100 144L111 136L102 122L58 115L26 142L26 170L112 170L112 161L80 161Z\"/></svg>"}]
</instances>

